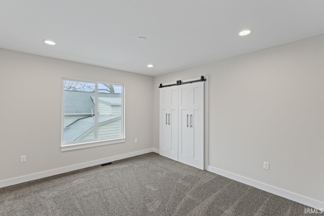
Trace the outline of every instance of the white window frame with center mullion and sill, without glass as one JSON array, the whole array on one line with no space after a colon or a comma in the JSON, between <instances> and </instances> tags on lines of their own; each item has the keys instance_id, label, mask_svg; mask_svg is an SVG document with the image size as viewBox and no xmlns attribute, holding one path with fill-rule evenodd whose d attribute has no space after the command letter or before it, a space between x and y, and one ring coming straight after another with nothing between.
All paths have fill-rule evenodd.
<instances>
[{"instance_id":1,"label":"white window frame with center mullion and sill, without glass","mask_svg":"<svg viewBox=\"0 0 324 216\"><path fill-rule=\"evenodd\" d=\"M76 81L76 82L86 82L95 84L95 113L98 113L98 84L112 84L121 86L121 137L104 139L98 138L98 115L95 115L94 123L94 133L95 138L85 141L73 141L64 143L64 81ZM94 80L85 80L85 79L74 79L62 77L62 102L61 102L61 151L69 151L75 149L91 148L95 146L110 145L115 143L124 143L126 140L125 137L125 85L118 84L113 82L104 82L104 81L94 81Z\"/></svg>"}]
</instances>

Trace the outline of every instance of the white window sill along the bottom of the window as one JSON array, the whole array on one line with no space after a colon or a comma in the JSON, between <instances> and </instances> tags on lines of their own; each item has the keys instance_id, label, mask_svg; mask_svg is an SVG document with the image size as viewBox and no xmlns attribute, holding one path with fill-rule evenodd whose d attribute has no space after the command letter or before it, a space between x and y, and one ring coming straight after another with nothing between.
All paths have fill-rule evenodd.
<instances>
[{"instance_id":1,"label":"white window sill along the bottom of the window","mask_svg":"<svg viewBox=\"0 0 324 216\"><path fill-rule=\"evenodd\" d=\"M91 148L95 146L104 146L104 145L124 143L124 142L125 142L125 137L116 138L112 140L98 140L98 141L92 141L87 143L68 144L68 145L61 145L61 151L70 151L75 149L84 149L84 148Z\"/></svg>"}]
</instances>

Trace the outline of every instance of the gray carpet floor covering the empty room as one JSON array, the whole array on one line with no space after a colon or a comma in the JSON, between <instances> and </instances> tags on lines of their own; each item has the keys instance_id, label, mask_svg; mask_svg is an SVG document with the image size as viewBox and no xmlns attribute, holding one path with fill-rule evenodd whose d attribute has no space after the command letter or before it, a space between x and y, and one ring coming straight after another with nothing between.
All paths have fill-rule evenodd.
<instances>
[{"instance_id":1,"label":"gray carpet floor covering the empty room","mask_svg":"<svg viewBox=\"0 0 324 216\"><path fill-rule=\"evenodd\" d=\"M311 215L305 208L155 153L0 189L0 215Z\"/></svg>"}]
</instances>

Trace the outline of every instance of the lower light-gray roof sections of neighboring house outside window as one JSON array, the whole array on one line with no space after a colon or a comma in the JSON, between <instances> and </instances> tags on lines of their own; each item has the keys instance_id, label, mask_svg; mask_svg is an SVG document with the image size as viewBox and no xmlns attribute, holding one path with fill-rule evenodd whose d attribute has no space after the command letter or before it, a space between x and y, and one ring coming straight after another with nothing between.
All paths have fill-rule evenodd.
<instances>
[{"instance_id":1,"label":"lower light-gray roof sections of neighboring house outside window","mask_svg":"<svg viewBox=\"0 0 324 216\"><path fill-rule=\"evenodd\" d=\"M98 115L98 124L120 119L121 115ZM73 142L90 132L95 124L95 116L81 118L64 128L64 142Z\"/></svg>"}]
</instances>

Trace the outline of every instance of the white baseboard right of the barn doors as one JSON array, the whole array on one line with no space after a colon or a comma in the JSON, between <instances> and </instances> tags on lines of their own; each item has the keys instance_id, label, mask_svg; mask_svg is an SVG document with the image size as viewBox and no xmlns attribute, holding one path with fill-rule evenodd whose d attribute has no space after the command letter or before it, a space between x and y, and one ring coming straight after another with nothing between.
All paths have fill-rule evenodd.
<instances>
[{"instance_id":1,"label":"white baseboard right of the barn doors","mask_svg":"<svg viewBox=\"0 0 324 216\"><path fill-rule=\"evenodd\" d=\"M299 202L301 204L308 205L312 208L317 208L317 209L324 211L324 203L323 202L320 202L320 201L317 201L317 200L314 200L314 199L311 199L311 198L308 198L308 197L305 197L305 196L302 196L299 194L295 194L293 192L286 191L286 190L283 190L280 188L276 188L271 185L267 185L267 184L264 184L264 183L261 183L261 182L258 182L258 181L252 180L252 179L248 179L248 178L233 174L231 172L215 168L213 166L207 166L207 170L214 172L215 174L218 174L220 176L235 180L237 182L244 183L246 185L250 185L252 187L258 188L260 190L263 190L263 191L293 200L295 202Z\"/></svg>"}]
</instances>

